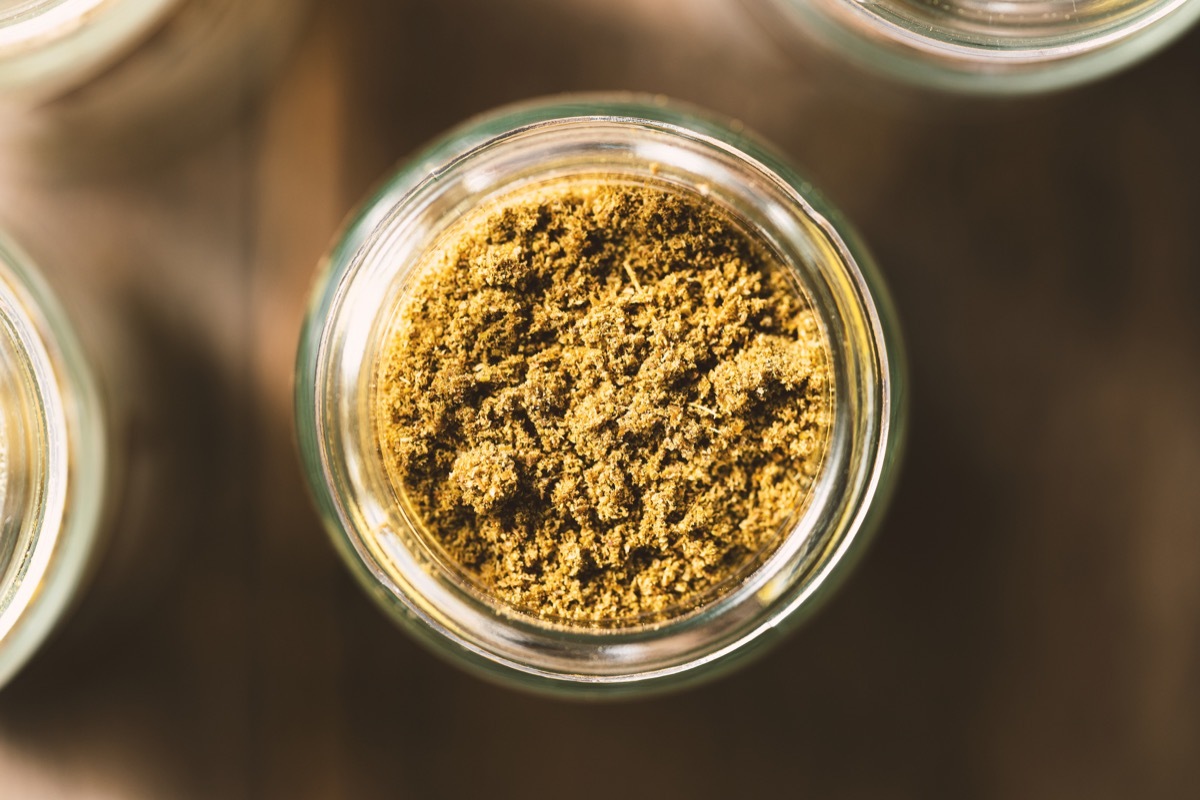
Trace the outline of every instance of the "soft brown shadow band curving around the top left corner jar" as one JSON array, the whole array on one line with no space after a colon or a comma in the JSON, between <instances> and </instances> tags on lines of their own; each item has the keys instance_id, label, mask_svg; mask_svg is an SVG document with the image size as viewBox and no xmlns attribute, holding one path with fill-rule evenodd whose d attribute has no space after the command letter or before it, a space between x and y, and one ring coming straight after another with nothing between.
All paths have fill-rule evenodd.
<instances>
[{"instance_id":1,"label":"soft brown shadow band curving around the top left corner jar","mask_svg":"<svg viewBox=\"0 0 1200 800\"><path fill-rule=\"evenodd\" d=\"M34 108L0 109L6 174L146 172L254 110L311 0L185 0L132 50Z\"/></svg>"}]
</instances>

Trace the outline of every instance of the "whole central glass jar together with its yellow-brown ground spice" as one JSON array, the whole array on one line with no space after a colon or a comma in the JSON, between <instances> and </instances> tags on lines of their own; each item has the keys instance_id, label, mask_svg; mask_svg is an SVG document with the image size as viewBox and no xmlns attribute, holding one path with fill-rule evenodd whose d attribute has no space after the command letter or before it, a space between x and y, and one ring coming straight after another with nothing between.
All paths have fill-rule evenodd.
<instances>
[{"instance_id":1,"label":"whole central glass jar together with its yellow-brown ground spice","mask_svg":"<svg viewBox=\"0 0 1200 800\"><path fill-rule=\"evenodd\" d=\"M574 95L468 121L350 219L296 433L368 594L482 676L678 688L848 572L904 429L848 224L734 122Z\"/></svg>"}]
</instances>

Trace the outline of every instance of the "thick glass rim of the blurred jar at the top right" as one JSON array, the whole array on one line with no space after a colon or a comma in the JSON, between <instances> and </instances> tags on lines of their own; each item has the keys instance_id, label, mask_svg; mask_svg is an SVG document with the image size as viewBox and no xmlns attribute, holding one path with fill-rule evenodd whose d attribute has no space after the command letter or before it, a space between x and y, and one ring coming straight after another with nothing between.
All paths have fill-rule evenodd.
<instances>
[{"instance_id":1,"label":"thick glass rim of the blurred jar at the top right","mask_svg":"<svg viewBox=\"0 0 1200 800\"><path fill-rule=\"evenodd\" d=\"M1122 70L1200 19L1200 0L1159 0L1112 24L1061 34L958 34L887 4L761 0L860 66L922 85L980 94L1052 91Z\"/></svg>"}]
</instances>

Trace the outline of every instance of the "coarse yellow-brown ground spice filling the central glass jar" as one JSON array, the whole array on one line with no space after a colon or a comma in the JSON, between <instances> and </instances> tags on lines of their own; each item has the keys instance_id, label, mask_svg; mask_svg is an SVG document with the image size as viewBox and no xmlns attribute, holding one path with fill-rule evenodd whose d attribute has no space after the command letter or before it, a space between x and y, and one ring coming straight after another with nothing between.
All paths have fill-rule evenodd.
<instances>
[{"instance_id":1,"label":"coarse yellow-brown ground spice filling the central glass jar","mask_svg":"<svg viewBox=\"0 0 1200 800\"><path fill-rule=\"evenodd\" d=\"M828 347L772 252L703 196L595 176L455 223L376 372L388 475L517 609L686 612L806 500Z\"/></svg>"}]
</instances>

